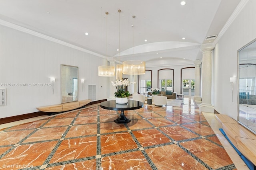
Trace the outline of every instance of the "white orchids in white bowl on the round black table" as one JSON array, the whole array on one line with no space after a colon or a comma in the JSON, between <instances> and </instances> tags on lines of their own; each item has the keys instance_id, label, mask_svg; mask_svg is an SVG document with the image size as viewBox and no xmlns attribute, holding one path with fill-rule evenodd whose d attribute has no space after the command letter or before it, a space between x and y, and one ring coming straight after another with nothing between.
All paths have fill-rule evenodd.
<instances>
[{"instance_id":1,"label":"white orchids in white bowl on the round black table","mask_svg":"<svg viewBox=\"0 0 256 170\"><path fill-rule=\"evenodd\" d=\"M128 96L130 93L126 90L126 86L134 83L130 82L127 79L117 80L115 83L111 82L113 86L116 87L115 97L117 104L126 104L128 102Z\"/></svg>"}]
</instances>

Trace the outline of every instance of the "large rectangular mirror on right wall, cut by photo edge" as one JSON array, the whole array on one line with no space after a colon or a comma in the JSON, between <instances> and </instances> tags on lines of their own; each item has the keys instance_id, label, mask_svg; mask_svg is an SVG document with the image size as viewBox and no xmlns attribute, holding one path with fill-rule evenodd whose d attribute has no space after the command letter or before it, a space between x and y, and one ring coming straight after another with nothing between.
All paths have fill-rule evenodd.
<instances>
[{"instance_id":1,"label":"large rectangular mirror on right wall, cut by photo edge","mask_svg":"<svg viewBox=\"0 0 256 170\"><path fill-rule=\"evenodd\" d=\"M256 39L238 50L238 123L256 134Z\"/></svg>"}]
</instances>

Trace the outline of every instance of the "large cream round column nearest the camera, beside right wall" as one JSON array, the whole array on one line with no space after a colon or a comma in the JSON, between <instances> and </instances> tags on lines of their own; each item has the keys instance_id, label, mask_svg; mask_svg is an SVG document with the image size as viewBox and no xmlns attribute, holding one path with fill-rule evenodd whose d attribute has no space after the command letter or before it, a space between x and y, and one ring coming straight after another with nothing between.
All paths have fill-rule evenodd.
<instances>
[{"instance_id":1,"label":"large cream round column nearest the camera, beside right wall","mask_svg":"<svg viewBox=\"0 0 256 170\"><path fill-rule=\"evenodd\" d=\"M201 51L202 57L202 103L200 110L203 112L214 113L212 106L212 50L214 44L203 44Z\"/></svg>"}]
</instances>

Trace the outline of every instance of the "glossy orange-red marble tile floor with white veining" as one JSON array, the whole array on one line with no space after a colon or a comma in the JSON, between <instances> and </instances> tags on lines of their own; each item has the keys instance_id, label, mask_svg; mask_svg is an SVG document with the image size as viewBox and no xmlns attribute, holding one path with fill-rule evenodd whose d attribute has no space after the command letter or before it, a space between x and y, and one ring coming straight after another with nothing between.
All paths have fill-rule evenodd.
<instances>
[{"instance_id":1,"label":"glossy orange-red marble tile floor with white veining","mask_svg":"<svg viewBox=\"0 0 256 170\"><path fill-rule=\"evenodd\" d=\"M246 170L212 113L181 107L85 109L0 125L0 169Z\"/></svg>"}]
</instances>

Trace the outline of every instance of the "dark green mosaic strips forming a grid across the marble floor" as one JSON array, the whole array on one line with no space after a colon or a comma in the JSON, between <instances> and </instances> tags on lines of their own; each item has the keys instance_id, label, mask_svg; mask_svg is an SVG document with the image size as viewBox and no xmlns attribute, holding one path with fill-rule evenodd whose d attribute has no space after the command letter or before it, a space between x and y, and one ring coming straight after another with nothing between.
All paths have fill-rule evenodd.
<instances>
[{"instance_id":1,"label":"dark green mosaic strips forming a grid across the marble floor","mask_svg":"<svg viewBox=\"0 0 256 170\"><path fill-rule=\"evenodd\" d=\"M167 111L167 109L165 110L165 111ZM145 112L145 111L144 111ZM152 111L152 112L154 112L154 111ZM189 111L190 112L190 111ZM138 112L137 112L137 114L138 115L140 115ZM158 113L156 113L156 114L158 114ZM189 113L188 113L189 114ZM61 139L64 139L65 138L65 136L67 135L67 133L68 133L68 131L70 130L70 128L72 127L72 125L74 124L74 121L76 120L76 118L78 117L78 115L79 115L79 113L76 115L76 117L74 117L74 119L73 119L73 121L72 121L72 123L70 123L70 125L71 126L69 126L67 129L66 129L66 131L65 131L65 133L64 133L64 135L62 136L62 138ZM103 158L103 157L106 157L106 156L113 156L113 155L118 155L118 154L122 154L122 153L129 153L129 152L134 152L134 151L138 151L138 150L140 150L141 152L142 152L142 154L144 155L144 157L146 158L146 160L148 161L148 163L150 164L150 166L151 166L151 168L152 169L154 169L154 170L157 170L157 168L156 168L156 166L155 165L153 165L152 166L152 164L154 164L153 162L152 162L152 160L150 159L150 157L148 156L148 154L146 153L146 149L150 149L150 148L157 148L157 147L162 147L162 146L166 146L166 145L180 145L180 143L182 143L182 142L186 142L186 141L194 141L194 140L198 140L198 139L201 139L201 138L204 138L204 139L206 139L206 140L208 140L208 141L210 141L211 143L213 143L213 144L215 144L215 145L217 145L218 147L222 147L221 145L219 145L218 143L216 143L216 142L214 142L214 141L212 141L212 140L210 140L210 139L208 139L209 137L216 137L216 134L212 134L212 135L205 135L205 136L202 136L202 135L199 135L198 133L196 133L196 131L193 131L193 130L191 130L191 129L189 129L189 128L186 128L186 127L184 127L183 125L187 125L187 124L194 124L194 123L200 123L200 124L202 124L202 125L205 125L204 124L204 122L205 121L196 121L196 120L194 120L194 119L191 119L191 120L193 120L194 122L192 122L192 123L181 123L181 124L175 124L175 125L167 125L167 126L161 126L161 127L172 127L172 126L176 126L176 125L180 125L182 128L184 128L185 130L187 130L187 131L189 131L189 132L191 132L191 133L194 133L195 135L198 135L199 137L196 137L196 138L190 138L190 139L184 139L184 140L180 140L180 141L174 141L174 142L170 142L170 143L163 143L163 144L158 144L158 145L152 145L152 146L148 146L148 147L142 147L141 145L140 145L140 143L138 142L138 139L134 136L134 134L132 133L133 131L139 131L139 130L142 130L142 129L134 129L134 130L130 130L130 128L128 127L128 125L126 125L127 127L127 129L128 129L128 132L132 135L132 138L134 139L136 139L137 140L137 142L139 143L139 145L137 144L137 142L136 142L136 144L138 145L138 147L139 146L141 146L141 147L139 147L139 148L137 148L137 149L130 149L130 150L121 150L121 151L118 151L118 152L112 152L112 153L108 153L108 154L102 154L101 155L101 147L100 147L100 145L98 145L98 144L100 144L100 135L105 135L105 134L115 134L115 133L122 133L122 132L127 132L127 131L118 131L118 132L111 132L111 133L104 133L104 134L100 134L100 109L99 109L99 106L98 106L98 109L97 109L97 154L96 154L96 156L89 156L89 157L86 157L86 158L78 158L78 159L74 159L74 160L66 160L66 161L62 161L62 162L55 162L55 163L50 163L50 164L42 164L42 165L40 165L40 166L36 166L36 167L34 167L33 169L44 169L44 168L46 168L46 167L53 167L53 166L59 166L59 165L64 165L64 164L70 164L70 163L76 163L76 162L81 162L81 161L84 161L84 160L92 160L92 159L96 159L96 167L101 167L101 159ZM174 116L178 116L178 115L174 115ZM161 116L161 117L163 117L163 116ZM183 116L182 116L183 117ZM155 118L155 117L152 117L152 118ZM150 118L150 119L152 119L152 118ZM166 117L165 117L166 118ZM185 117L185 118L187 118L187 119L190 119L190 118L188 118L188 117ZM150 123L149 122L149 118L144 118L148 123ZM167 118L166 118L167 119ZM47 123L50 121L50 120L52 120L52 119L49 119L48 121L47 121ZM169 119L168 119L169 120ZM171 120L169 120L169 121L171 121ZM46 123L45 123L46 124ZM44 124L44 125L45 125ZM86 124L89 124L89 123L86 123ZM90 124L95 124L95 123L90 123ZM79 124L80 125L80 124ZM159 129L160 127L157 127L157 128L155 128L156 126L154 126L152 123L150 123L150 125L152 125L153 127L152 128L144 128L144 130L146 130L146 129L158 129L158 131L160 131L162 134L164 134L165 136L166 136L166 134L163 132L163 131L161 131L161 129ZM43 125L41 125L40 127L42 127ZM210 127L209 125L205 125L205 126L207 126L207 127ZM61 127L65 127L65 126L61 126ZM39 130L39 129L41 129L41 128L37 128L37 129L35 129L35 130ZM43 128L43 129L45 129L45 128ZM5 129L6 130L6 129ZM19 130L14 130L14 131L19 131ZM35 131L36 132L36 131ZM35 133L34 132L34 133ZM30 133L31 135L33 134L33 133ZM75 139L75 138L83 138L83 137L89 137L89 136L96 136L96 135L86 135L86 136L79 136L79 137L71 137L71 138L65 138L65 139ZM167 136L166 136L167 137ZM27 139L27 138L26 138ZM24 139L24 140L26 140L26 139ZM22 139L23 140L23 139ZM21 140L21 141L22 141ZM24 141L23 140L23 141ZM54 139L54 140L51 140L51 141L57 141L57 140L60 140L60 139ZM20 141L20 142L21 142ZM28 144L32 144L32 143L44 143L44 142L46 142L46 141L36 141L36 142L31 142L31 143L22 143L22 144L19 144L19 145L28 145ZM61 141L59 141L59 142L61 142ZM16 143L16 145L8 145L8 147L10 147L10 146L13 146L14 148L15 147L17 147L18 145L17 145L18 143ZM181 146L181 147L180 147ZM190 152L188 149L186 149L185 147L183 147L182 145L180 145L179 147L181 148L181 149L183 149L185 152ZM3 146L0 146L0 147L3 147ZM5 145L5 147L7 147L7 145ZM59 146L58 146L59 147ZM222 147L223 148L223 147ZM56 148L56 150L57 150L58 148ZM98 149L100 149L100 151L98 151ZM9 151L10 152L10 151ZM56 152L56 151L55 151ZM52 156L55 154L55 152L52 154ZM187 152L187 153L188 153ZM52 152L51 152L52 153ZM194 154L192 154L192 152L190 152L190 153L188 153L190 156L192 156L192 155L194 155ZM50 155L50 154L49 154ZM201 159L199 159L197 156L192 156L195 160L197 160L198 162L200 162L200 164L202 164L203 166L205 166L206 168L208 168L208 169L212 169L208 164L206 164L204 161L202 161ZM200 160L200 161L199 161ZM50 160L49 160L50 161ZM150 161L152 162L152 164L150 163ZM210 167L210 168L209 168ZM231 169L234 169L234 168L236 168L235 166L234 166L234 164L230 164L230 165L226 165L226 166L222 166L222 167L220 167L220 168L218 168L217 170L231 170Z\"/></svg>"}]
</instances>

